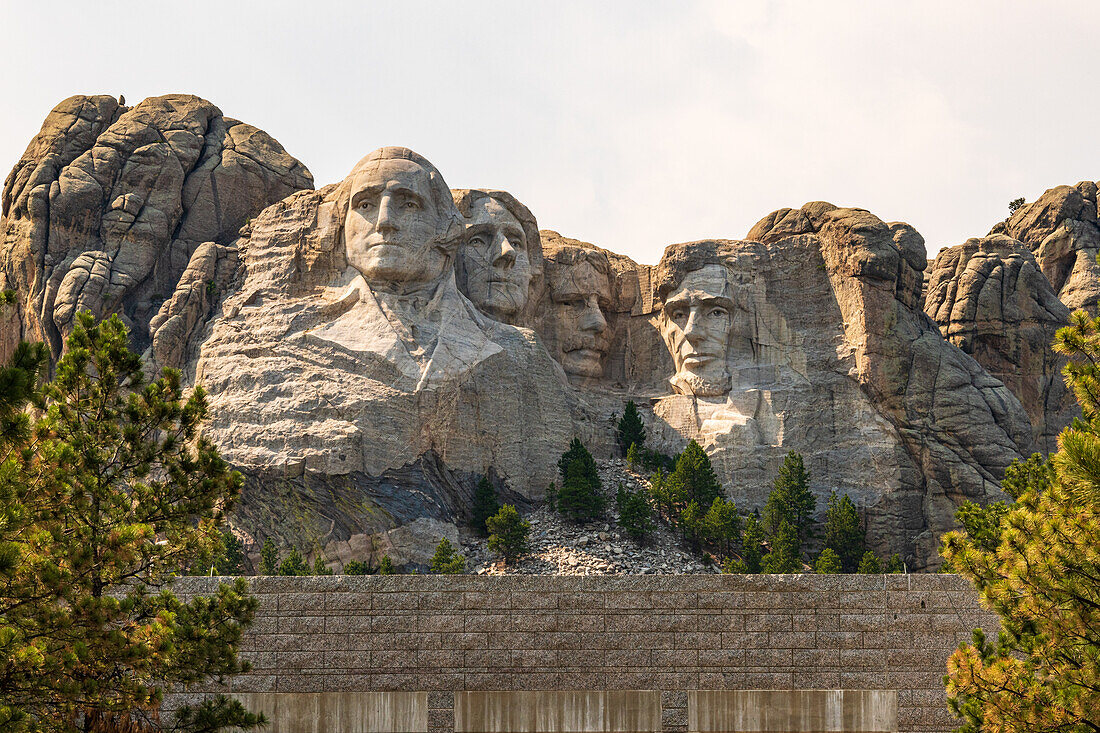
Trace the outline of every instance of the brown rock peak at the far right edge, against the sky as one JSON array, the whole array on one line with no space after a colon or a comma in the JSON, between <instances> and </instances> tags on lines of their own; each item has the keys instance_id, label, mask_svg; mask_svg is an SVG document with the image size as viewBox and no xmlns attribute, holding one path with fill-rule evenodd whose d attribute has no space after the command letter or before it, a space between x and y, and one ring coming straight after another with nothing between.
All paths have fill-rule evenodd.
<instances>
[{"instance_id":1,"label":"brown rock peak at the far right edge, against the sky","mask_svg":"<svg viewBox=\"0 0 1100 733\"><path fill-rule=\"evenodd\" d=\"M990 233L1002 231L1031 249L1058 299L1070 310L1100 303L1097 184L1084 180L1050 188Z\"/></svg>"}]
</instances>

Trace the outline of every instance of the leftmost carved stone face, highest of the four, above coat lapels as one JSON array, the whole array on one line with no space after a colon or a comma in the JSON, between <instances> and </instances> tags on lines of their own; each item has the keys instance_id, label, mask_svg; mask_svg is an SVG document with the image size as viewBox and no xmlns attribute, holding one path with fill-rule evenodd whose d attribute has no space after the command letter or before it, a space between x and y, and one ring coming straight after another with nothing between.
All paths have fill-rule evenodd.
<instances>
[{"instance_id":1,"label":"leftmost carved stone face, highest of the four, above coat lapels","mask_svg":"<svg viewBox=\"0 0 1100 733\"><path fill-rule=\"evenodd\" d=\"M354 174L344 247L348 264L369 284L429 283L450 256L437 241L443 214L431 175L413 161L381 160Z\"/></svg>"}]
</instances>

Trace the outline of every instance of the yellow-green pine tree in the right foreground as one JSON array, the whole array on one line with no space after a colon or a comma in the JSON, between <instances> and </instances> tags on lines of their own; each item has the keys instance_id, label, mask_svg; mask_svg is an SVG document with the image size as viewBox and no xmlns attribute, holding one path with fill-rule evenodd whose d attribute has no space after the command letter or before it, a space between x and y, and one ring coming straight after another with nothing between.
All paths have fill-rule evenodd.
<instances>
[{"instance_id":1,"label":"yellow-green pine tree in the right foreground","mask_svg":"<svg viewBox=\"0 0 1100 733\"><path fill-rule=\"evenodd\" d=\"M1100 731L1100 321L1084 310L1058 331L1082 419L1052 457L1018 469L999 526L944 538L943 554L1001 617L989 641L948 659L959 731ZM996 544L996 547L993 545Z\"/></svg>"}]
</instances>

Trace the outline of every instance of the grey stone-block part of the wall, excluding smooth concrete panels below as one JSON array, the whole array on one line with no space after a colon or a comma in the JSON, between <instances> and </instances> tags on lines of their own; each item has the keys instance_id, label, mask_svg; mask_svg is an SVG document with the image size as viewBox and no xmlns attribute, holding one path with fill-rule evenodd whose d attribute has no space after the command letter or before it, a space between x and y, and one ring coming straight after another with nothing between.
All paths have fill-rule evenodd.
<instances>
[{"instance_id":1,"label":"grey stone-block part of the wall, excluding smooth concrete panels below","mask_svg":"<svg viewBox=\"0 0 1100 733\"><path fill-rule=\"evenodd\" d=\"M218 579L186 578L179 592ZM945 663L998 628L957 576L253 578L232 692L657 690L686 731L698 690L897 691L899 731L955 727ZM177 694L169 707L193 689Z\"/></svg>"}]
</instances>

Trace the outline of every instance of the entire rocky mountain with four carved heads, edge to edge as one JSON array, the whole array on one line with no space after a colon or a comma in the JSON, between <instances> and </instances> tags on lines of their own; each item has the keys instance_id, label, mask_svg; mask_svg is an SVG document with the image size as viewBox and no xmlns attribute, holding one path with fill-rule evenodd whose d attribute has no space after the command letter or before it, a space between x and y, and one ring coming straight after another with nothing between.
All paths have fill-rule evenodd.
<instances>
[{"instance_id":1,"label":"entire rocky mountain with four carved heads, edge to edge","mask_svg":"<svg viewBox=\"0 0 1100 733\"><path fill-rule=\"evenodd\" d=\"M121 314L209 392L238 526L331 559L425 561L481 475L537 502L634 400L650 447L697 440L743 510L798 450L872 547L930 567L956 506L1074 414L1045 344L1096 303L1100 226L1094 185L1052 190L927 275L912 227L825 203L651 266L404 147L314 190L205 100L75 97L4 185L0 346L57 355L76 310Z\"/></svg>"}]
</instances>

